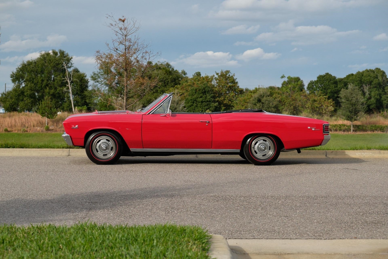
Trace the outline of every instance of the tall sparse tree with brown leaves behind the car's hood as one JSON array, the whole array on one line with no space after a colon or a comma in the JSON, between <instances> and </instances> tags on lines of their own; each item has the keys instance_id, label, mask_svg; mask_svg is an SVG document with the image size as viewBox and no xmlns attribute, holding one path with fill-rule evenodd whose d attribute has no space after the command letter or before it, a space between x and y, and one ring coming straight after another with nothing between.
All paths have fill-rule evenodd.
<instances>
[{"instance_id":1,"label":"tall sparse tree with brown leaves behind the car's hood","mask_svg":"<svg viewBox=\"0 0 388 259\"><path fill-rule=\"evenodd\" d=\"M140 29L137 21L124 16L116 20L113 15L108 15L107 19L115 38L111 45L106 43L106 52L96 51L95 59L99 69L104 71L107 85L97 88L96 93L100 101L127 110L158 83L158 77L151 76L154 70L151 61L159 54L153 54L149 45L140 41L136 35Z\"/></svg>"}]
</instances>

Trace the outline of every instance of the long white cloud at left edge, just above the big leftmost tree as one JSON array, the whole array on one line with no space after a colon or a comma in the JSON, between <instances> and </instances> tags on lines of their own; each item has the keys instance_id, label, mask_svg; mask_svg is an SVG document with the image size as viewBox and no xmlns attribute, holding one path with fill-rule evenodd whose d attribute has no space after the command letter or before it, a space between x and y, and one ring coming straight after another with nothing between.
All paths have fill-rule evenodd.
<instances>
[{"instance_id":1,"label":"long white cloud at left edge, just above the big leftmost tree","mask_svg":"<svg viewBox=\"0 0 388 259\"><path fill-rule=\"evenodd\" d=\"M58 47L67 40L64 35L53 34L47 36L46 40L39 40L36 35L26 35L25 40L17 35L12 35L10 40L0 45L0 50L4 52L24 51L44 47Z\"/></svg>"}]
</instances>

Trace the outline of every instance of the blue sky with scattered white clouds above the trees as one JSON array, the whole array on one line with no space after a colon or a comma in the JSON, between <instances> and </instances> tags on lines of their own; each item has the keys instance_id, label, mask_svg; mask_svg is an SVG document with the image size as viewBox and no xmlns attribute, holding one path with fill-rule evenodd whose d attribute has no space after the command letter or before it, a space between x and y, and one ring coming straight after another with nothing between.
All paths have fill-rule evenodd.
<instances>
[{"instance_id":1,"label":"blue sky with scattered white clouds above the trees","mask_svg":"<svg viewBox=\"0 0 388 259\"><path fill-rule=\"evenodd\" d=\"M157 59L188 75L228 69L243 88L388 71L387 11L387 0L0 0L0 92L22 60L51 49L89 76L113 37L107 13L137 19Z\"/></svg>"}]
</instances>

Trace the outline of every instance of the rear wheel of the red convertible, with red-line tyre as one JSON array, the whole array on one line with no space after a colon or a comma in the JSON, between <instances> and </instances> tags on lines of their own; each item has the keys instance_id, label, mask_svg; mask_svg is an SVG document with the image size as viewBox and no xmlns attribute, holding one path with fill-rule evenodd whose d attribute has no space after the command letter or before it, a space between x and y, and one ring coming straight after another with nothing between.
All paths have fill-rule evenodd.
<instances>
[{"instance_id":1,"label":"rear wheel of the red convertible, with red-line tyre","mask_svg":"<svg viewBox=\"0 0 388 259\"><path fill-rule=\"evenodd\" d=\"M279 144L274 137L268 135L252 136L244 145L246 159L255 165L270 165L279 154Z\"/></svg>"}]
</instances>

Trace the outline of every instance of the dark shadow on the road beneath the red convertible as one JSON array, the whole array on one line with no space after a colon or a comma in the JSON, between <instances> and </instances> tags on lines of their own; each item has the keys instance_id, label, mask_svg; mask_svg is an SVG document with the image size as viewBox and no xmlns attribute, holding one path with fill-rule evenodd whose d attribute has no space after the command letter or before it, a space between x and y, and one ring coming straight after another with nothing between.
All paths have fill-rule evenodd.
<instances>
[{"instance_id":1,"label":"dark shadow on the road beneath the red convertible","mask_svg":"<svg viewBox=\"0 0 388 259\"><path fill-rule=\"evenodd\" d=\"M270 166L277 165L299 165L299 164L348 164L364 163L360 158L279 158ZM163 163L163 164L244 164L252 165L242 158L174 158L162 157L122 157L117 162L119 165L140 164L140 163ZM254 165L252 165L254 166Z\"/></svg>"}]
</instances>

